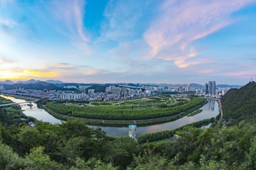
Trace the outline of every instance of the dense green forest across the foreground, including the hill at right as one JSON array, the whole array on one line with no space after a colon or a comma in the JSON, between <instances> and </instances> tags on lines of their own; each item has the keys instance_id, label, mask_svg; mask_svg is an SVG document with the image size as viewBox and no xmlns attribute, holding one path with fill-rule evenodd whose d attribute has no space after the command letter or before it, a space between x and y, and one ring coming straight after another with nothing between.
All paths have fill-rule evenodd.
<instances>
[{"instance_id":1,"label":"dense green forest across the foreground, including the hill at right","mask_svg":"<svg viewBox=\"0 0 256 170\"><path fill-rule=\"evenodd\" d=\"M33 118L19 107L4 107L0 169L256 169L255 99L255 82L250 82L222 98L225 120L209 120L211 128L198 128L206 122L195 123L142 135L138 142L110 137L83 120L61 125L34 120L35 127L29 127ZM1 98L1 104L6 102ZM166 139L152 140L161 134ZM170 139L173 134L179 135L176 141Z\"/></svg>"}]
</instances>

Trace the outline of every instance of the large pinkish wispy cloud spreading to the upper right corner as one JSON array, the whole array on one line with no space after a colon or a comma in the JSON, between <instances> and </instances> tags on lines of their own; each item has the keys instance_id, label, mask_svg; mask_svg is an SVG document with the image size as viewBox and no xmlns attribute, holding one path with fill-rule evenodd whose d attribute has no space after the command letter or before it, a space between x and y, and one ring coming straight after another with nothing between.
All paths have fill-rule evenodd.
<instances>
[{"instance_id":1,"label":"large pinkish wispy cloud spreading to the upper right corner","mask_svg":"<svg viewBox=\"0 0 256 170\"><path fill-rule=\"evenodd\" d=\"M195 57L191 56L190 43L232 24L234 19L230 15L251 2L253 0L164 1L159 6L159 17L144 34L151 48L148 58L167 58L179 67L202 63L185 63Z\"/></svg>"}]
</instances>

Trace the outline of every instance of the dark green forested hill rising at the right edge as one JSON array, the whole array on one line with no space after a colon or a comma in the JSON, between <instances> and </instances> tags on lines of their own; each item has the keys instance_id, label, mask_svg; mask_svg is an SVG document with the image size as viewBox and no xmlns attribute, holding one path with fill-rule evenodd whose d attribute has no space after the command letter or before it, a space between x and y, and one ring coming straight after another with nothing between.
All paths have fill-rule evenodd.
<instances>
[{"instance_id":1,"label":"dark green forested hill rising at the right edge","mask_svg":"<svg viewBox=\"0 0 256 170\"><path fill-rule=\"evenodd\" d=\"M238 123L246 120L250 123L256 122L256 83L249 82L240 89L230 89L221 98L225 120Z\"/></svg>"}]
</instances>

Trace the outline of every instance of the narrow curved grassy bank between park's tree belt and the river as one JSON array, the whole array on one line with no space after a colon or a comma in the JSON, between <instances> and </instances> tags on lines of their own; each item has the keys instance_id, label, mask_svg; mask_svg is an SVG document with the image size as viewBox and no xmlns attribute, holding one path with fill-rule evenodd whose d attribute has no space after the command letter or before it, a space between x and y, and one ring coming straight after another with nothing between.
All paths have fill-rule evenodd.
<instances>
[{"instance_id":1,"label":"narrow curved grassy bank between park's tree belt and the river","mask_svg":"<svg viewBox=\"0 0 256 170\"><path fill-rule=\"evenodd\" d=\"M94 126L102 126L102 127L127 127L127 125L136 124L141 127L143 126L150 126L150 125L157 125L159 123L166 123L170 121L175 121L180 118L183 118L184 116L187 116L188 114L191 114L191 112L196 111L203 105L207 104L207 100L205 100L204 103L200 105L196 105L195 107L189 109L185 112L180 112L179 114L175 114L173 116L166 116L163 118L155 118L155 119L145 119L145 120L97 120L97 119L88 119L88 118L79 118L74 116L67 116L63 114L58 114L54 111L51 111L51 109L47 108L45 105L42 105L42 109L47 111L49 114L54 116L57 119L67 121L67 119L83 119L86 121L88 125L94 125Z\"/></svg>"}]
</instances>

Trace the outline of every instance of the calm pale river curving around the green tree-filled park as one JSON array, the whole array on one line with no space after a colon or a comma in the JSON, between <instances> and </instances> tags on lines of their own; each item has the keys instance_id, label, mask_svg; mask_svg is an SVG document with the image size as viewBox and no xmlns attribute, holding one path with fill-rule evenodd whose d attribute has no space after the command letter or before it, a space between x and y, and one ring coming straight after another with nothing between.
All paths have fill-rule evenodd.
<instances>
[{"instance_id":1,"label":"calm pale river curving around the green tree-filled park","mask_svg":"<svg viewBox=\"0 0 256 170\"><path fill-rule=\"evenodd\" d=\"M1 97L7 98L9 100L12 100L13 102L26 102L25 100L17 99L14 97L8 97L4 95L0 95ZM170 121L168 123L159 123L158 125L150 125L146 127L137 127L136 130L136 137L142 134L147 133L153 133L153 132L159 132L163 130L172 130L175 128L182 127L184 125L187 125L189 123L194 123L196 121L205 120L208 118L216 117L219 114L219 105L218 101L207 99L208 103L205 104L202 109L203 111L199 114L196 114L194 116L184 116L183 118L180 118L179 120ZM48 112L44 111L44 109L39 109L35 103L32 103L33 106L24 106L22 107L22 111L26 116L32 116L36 118L37 120L49 122L49 123L62 123L61 120L58 120L51 116ZM90 126L89 127L97 127L97 126ZM128 127L100 127L102 130L104 130L108 135L113 136L124 136L128 135L129 128Z\"/></svg>"}]
</instances>

